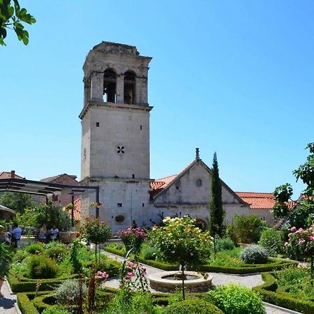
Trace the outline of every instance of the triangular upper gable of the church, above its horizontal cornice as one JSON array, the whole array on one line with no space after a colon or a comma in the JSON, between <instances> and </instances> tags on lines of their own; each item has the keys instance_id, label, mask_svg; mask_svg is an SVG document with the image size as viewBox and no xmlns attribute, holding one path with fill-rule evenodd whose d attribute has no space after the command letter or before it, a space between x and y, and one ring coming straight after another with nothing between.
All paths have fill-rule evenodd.
<instances>
[{"instance_id":1,"label":"triangular upper gable of the church, above its horizontal cornice","mask_svg":"<svg viewBox=\"0 0 314 314\"><path fill-rule=\"evenodd\" d=\"M202 160L194 160L177 176L157 180L151 187L154 204L207 204L211 197L211 170ZM224 204L244 204L223 181L222 195Z\"/></svg>"}]
</instances>

